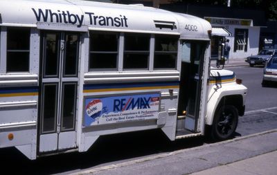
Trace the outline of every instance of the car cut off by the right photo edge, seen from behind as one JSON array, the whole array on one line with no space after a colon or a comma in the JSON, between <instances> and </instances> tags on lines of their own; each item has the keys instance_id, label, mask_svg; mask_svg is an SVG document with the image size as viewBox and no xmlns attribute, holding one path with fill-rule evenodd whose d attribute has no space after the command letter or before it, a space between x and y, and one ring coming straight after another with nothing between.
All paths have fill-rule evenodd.
<instances>
[{"instance_id":1,"label":"car cut off by the right photo edge, seen from behind","mask_svg":"<svg viewBox=\"0 0 277 175\"><path fill-rule=\"evenodd\" d=\"M262 86L267 85L269 82L277 82L277 55L271 57L264 68Z\"/></svg>"}]
</instances>

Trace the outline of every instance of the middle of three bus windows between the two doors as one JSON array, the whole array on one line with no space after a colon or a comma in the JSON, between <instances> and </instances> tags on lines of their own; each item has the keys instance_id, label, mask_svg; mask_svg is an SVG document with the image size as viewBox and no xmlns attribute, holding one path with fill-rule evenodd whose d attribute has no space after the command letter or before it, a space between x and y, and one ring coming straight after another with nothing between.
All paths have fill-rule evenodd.
<instances>
[{"instance_id":1,"label":"middle of three bus windows between the two doors","mask_svg":"<svg viewBox=\"0 0 277 175\"><path fill-rule=\"evenodd\" d=\"M150 55L150 35L125 33L123 68L147 69Z\"/></svg>"}]
</instances>

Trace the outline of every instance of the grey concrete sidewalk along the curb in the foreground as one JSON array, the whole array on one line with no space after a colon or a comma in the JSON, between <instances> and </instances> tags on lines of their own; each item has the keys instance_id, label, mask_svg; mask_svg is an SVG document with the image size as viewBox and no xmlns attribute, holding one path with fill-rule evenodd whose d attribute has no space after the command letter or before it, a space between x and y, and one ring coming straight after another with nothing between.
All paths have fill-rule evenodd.
<instances>
[{"instance_id":1,"label":"grey concrete sidewalk along the curb in the foreground","mask_svg":"<svg viewBox=\"0 0 277 175\"><path fill-rule=\"evenodd\" d=\"M142 146L147 146L142 143ZM249 136L129 160L73 174L270 175L277 172L277 129Z\"/></svg>"}]
</instances>

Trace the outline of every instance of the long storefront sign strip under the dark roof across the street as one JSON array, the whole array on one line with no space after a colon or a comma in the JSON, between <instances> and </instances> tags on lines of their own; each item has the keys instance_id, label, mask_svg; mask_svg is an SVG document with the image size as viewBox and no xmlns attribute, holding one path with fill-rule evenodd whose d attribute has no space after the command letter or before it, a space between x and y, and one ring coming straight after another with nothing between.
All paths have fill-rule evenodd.
<instances>
[{"instance_id":1,"label":"long storefront sign strip under the dark roof across the street","mask_svg":"<svg viewBox=\"0 0 277 175\"><path fill-rule=\"evenodd\" d=\"M212 25L226 25L226 26L251 26L251 19L228 19L228 18L215 18L215 17L204 17Z\"/></svg>"}]
</instances>

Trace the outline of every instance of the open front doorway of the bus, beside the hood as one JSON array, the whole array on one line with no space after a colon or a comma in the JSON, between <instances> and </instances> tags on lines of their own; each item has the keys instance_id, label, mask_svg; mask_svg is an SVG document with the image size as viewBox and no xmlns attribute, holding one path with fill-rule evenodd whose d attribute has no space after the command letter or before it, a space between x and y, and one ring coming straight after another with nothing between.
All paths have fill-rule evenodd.
<instances>
[{"instance_id":1,"label":"open front doorway of the bus, beside the hood","mask_svg":"<svg viewBox=\"0 0 277 175\"><path fill-rule=\"evenodd\" d=\"M177 136L197 133L202 75L207 42L184 41L181 48L181 79L179 87Z\"/></svg>"}]
</instances>

